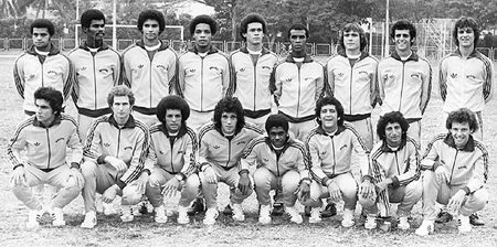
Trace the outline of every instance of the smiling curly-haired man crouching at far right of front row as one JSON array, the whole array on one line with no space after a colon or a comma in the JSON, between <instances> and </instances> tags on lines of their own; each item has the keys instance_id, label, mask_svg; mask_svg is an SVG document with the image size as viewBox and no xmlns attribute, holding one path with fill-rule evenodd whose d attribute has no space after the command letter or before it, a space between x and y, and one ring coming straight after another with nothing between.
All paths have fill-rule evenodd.
<instances>
[{"instance_id":1,"label":"smiling curly-haired man crouching at far right of front row","mask_svg":"<svg viewBox=\"0 0 497 247\"><path fill-rule=\"evenodd\" d=\"M488 150L473 138L478 120L473 111L461 108L448 114L442 133L430 141L421 162L423 176L423 223L416 234L434 232L435 205L447 205L457 215L459 233L469 233L469 215L482 211L488 202Z\"/></svg>"}]
</instances>

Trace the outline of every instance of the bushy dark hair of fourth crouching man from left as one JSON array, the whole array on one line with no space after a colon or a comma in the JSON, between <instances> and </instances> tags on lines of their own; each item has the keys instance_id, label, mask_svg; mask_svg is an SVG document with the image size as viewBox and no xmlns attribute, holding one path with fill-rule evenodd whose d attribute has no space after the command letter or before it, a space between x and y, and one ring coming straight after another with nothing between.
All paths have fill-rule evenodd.
<instances>
[{"instance_id":1,"label":"bushy dark hair of fourth crouching man from left","mask_svg":"<svg viewBox=\"0 0 497 247\"><path fill-rule=\"evenodd\" d=\"M245 125L245 114L242 103L236 97L225 97L219 100L214 107L214 126L221 129L221 116L223 112L233 112L236 115L236 132Z\"/></svg>"}]
</instances>

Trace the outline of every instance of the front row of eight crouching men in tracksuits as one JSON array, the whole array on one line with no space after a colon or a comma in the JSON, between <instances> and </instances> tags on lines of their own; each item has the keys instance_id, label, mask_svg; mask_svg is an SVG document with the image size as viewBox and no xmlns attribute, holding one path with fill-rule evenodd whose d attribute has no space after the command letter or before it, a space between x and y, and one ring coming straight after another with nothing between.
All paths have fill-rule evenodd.
<instances>
[{"instance_id":1,"label":"front row of eight crouching men in tracksuits","mask_svg":"<svg viewBox=\"0 0 497 247\"><path fill-rule=\"evenodd\" d=\"M458 230L465 233L472 229L468 216L488 201L484 189L488 152L472 136L478 129L475 114L464 108L450 114L448 132L436 136L420 161L420 148L406 136L409 124L402 114L392 111L380 117L380 141L370 152L356 128L343 121L343 108L332 97L317 103L318 125L305 143L289 135L283 115L269 116L263 135L245 122L242 105L232 97L218 103L213 122L203 126L197 139L186 125L190 108L184 99L165 97L157 106L160 122L149 130L133 117L133 93L117 86L107 98L112 114L94 121L86 147L81 144L74 118L62 112L60 92L42 87L34 100L35 115L18 126L8 146L13 164L10 183L14 195L30 210L28 227L39 226L45 211L54 226L65 225L62 208L81 191L86 212L81 225L84 228L97 224L96 192L105 203L121 196L123 222L134 219L130 206L146 194L155 207L155 221L166 223L163 197L179 191L179 224L190 222L188 206L201 192L208 207L203 223L210 225L219 215L219 182L230 186L235 221L244 221L242 202L255 187L261 224L272 222L272 190L282 192L285 211L296 224L303 222L295 208L297 200L311 208L309 223L321 222L322 198L342 200L343 227L355 225L359 201L368 229L377 227L378 216L394 215L392 203L399 203L398 227L411 228L411 211L422 197L423 222L415 230L417 235L433 233L436 203L458 215ZM70 165L66 148L72 150ZM359 171L350 165L352 153ZM360 183L352 173L360 173ZM50 208L43 208L31 191L45 183L60 187Z\"/></svg>"}]
</instances>

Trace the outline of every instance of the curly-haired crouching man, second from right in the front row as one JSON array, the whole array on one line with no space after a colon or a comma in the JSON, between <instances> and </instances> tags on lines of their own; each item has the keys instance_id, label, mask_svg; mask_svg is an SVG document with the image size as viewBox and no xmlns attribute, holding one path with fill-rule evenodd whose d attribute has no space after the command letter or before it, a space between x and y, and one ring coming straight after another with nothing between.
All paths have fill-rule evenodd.
<instances>
[{"instance_id":1,"label":"curly-haired crouching man, second from right in the front row","mask_svg":"<svg viewBox=\"0 0 497 247\"><path fill-rule=\"evenodd\" d=\"M377 135L380 142L370 154L371 176L359 189L359 203L364 208L364 227L377 227L378 213L382 217L392 216L392 203L399 203L398 227L411 228L408 218L423 193L420 180L420 154L417 142L408 136L409 124L399 111L380 117Z\"/></svg>"}]
</instances>

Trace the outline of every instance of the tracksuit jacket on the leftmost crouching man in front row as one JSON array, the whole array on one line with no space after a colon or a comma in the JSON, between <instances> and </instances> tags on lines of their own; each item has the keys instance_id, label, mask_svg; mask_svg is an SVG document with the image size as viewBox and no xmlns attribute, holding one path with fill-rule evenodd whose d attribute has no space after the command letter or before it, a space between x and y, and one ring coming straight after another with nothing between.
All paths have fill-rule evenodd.
<instances>
[{"instance_id":1,"label":"tracksuit jacket on the leftmost crouching man in front row","mask_svg":"<svg viewBox=\"0 0 497 247\"><path fill-rule=\"evenodd\" d=\"M80 168L83 144L80 141L76 120L66 115L56 115L50 126L43 126L36 116L23 120L7 147L12 165L32 165L50 171L66 165L66 148L72 149L71 167ZM25 150L22 158L20 151Z\"/></svg>"}]
</instances>

